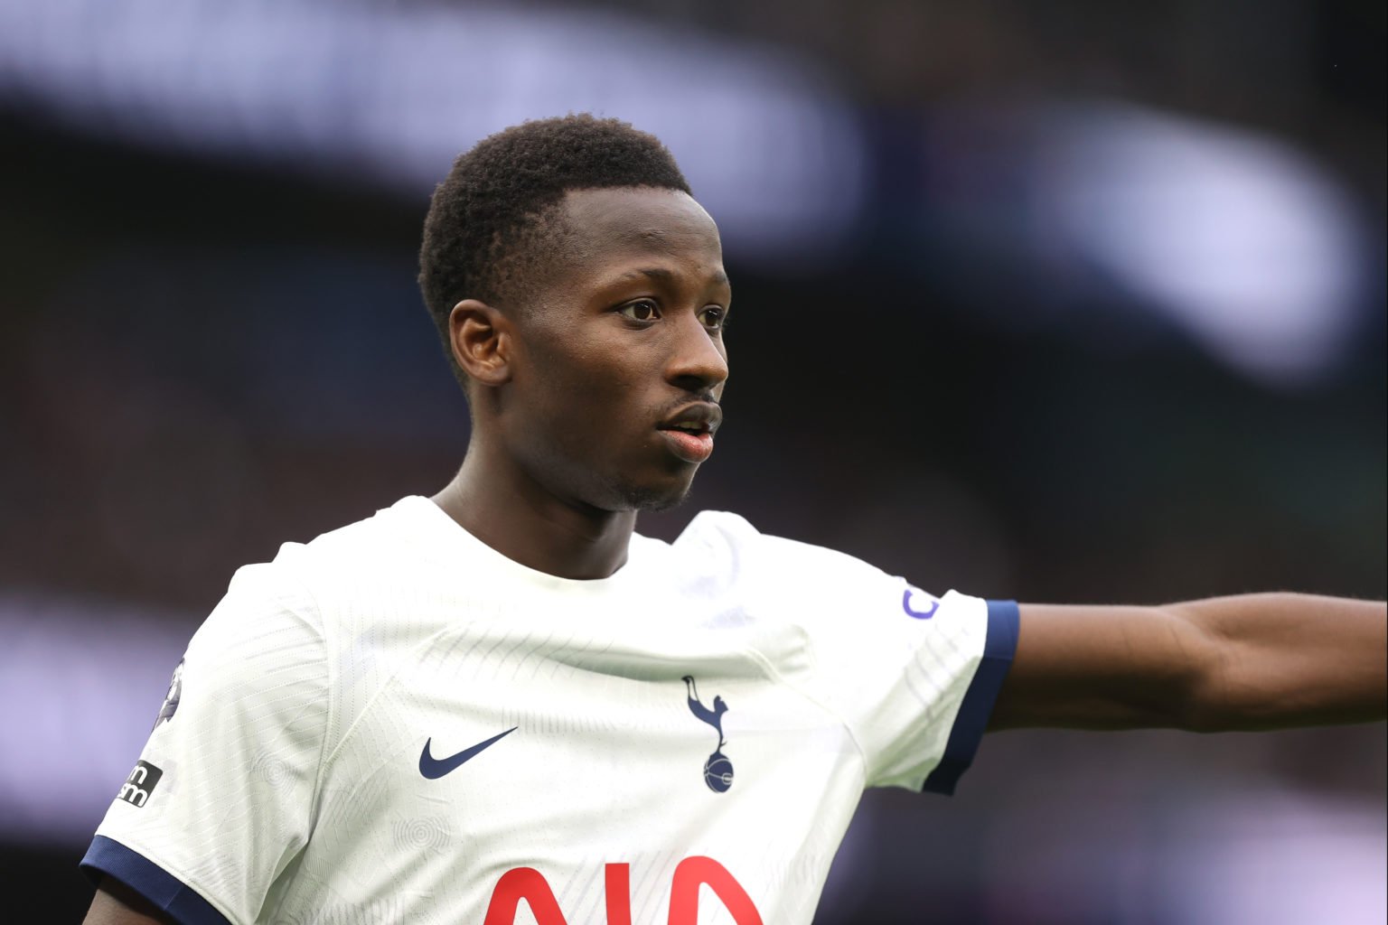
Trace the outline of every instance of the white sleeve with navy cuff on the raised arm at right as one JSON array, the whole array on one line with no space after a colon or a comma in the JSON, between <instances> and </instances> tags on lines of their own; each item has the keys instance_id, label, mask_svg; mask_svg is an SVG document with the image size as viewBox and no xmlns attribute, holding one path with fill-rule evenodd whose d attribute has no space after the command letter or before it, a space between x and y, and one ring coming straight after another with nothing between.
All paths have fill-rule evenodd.
<instances>
[{"instance_id":1,"label":"white sleeve with navy cuff on the raised arm at right","mask_svg":"<svg viewBox=\"0 0 1388 925\"><path fill-rule=\"evenodd\" d=\"M1010 667L1017 606L955 591L936 598L852 556L776 537L744 537L743 552L763 606L805 628L816 696L862 749L867 786L954 793Z\"/></svg>"}]
</instances>

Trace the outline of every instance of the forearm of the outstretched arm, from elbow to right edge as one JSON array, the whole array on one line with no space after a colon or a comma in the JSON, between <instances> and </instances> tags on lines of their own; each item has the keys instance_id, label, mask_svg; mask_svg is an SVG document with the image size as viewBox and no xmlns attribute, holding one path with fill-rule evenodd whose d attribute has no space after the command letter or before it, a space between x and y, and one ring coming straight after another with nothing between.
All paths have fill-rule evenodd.
<instances>
[{"instance_id":1,"label":"forearm of the outstretched arm, from elbow to right edge","mask_svg":"<svg viewBox=\"0 0 1388 925\"><path fill-rule=\"evenodd\" d=\"M1213 642L1191 700L1202 731L1366 723L1388 716L1388 606L1298 594L1171 605Z\"/></svg>"}]
</instances>

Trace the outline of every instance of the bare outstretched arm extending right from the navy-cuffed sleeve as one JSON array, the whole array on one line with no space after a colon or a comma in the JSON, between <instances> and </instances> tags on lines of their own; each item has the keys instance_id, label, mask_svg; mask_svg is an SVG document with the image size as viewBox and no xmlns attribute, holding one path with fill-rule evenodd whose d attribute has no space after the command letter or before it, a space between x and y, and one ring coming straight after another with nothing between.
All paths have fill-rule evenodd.
<instances>
[{"instance_id":1,"label":"bare outstretched arm extending right from the navy-cuffed sleeve","mask_svg":"<svg viewBox=\"0 0 1388 925\"><path fill-rule=\"evenodd\" d=\"M1022 605L990 729L1201 732L1388 714L1388 609L1296 594L1160 607Z\"/></svg>"}]
</instances>

